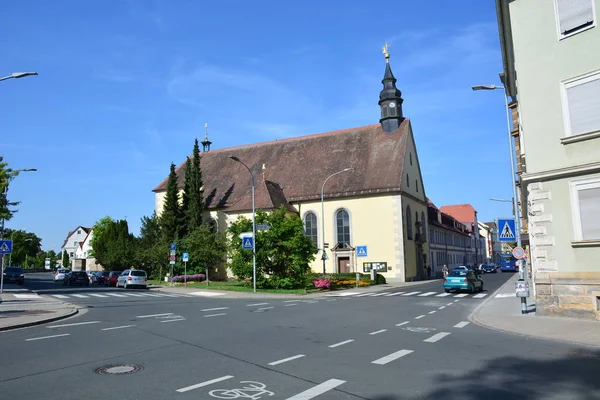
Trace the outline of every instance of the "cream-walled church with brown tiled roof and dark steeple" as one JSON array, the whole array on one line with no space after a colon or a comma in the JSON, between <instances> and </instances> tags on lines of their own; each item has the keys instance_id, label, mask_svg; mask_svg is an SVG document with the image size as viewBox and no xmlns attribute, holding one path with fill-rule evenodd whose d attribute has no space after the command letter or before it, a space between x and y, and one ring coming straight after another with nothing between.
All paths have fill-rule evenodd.
<instances>
[{"instance_id":1,"label":"cream-walled church with brown tiled roof and dark steeple","mask_svg":"<svg viewBox=\"0 0 600 400\"><path fill-rule=\"evenodd\" d=\"M220 231L240 215L252 218L250 175L233 156L255 177L257 210L284 206L302 218L305 234L319 249L313 271L374 268L387 279L424 279L430 265L425 187L387 46L384 54L378 124L217 150L210 150L205 137L207 218L210 214ZM184 164L177 168L180 189ZM167 179L153 190L157 215L166 188Z\"/></svg>"}]
</instances>

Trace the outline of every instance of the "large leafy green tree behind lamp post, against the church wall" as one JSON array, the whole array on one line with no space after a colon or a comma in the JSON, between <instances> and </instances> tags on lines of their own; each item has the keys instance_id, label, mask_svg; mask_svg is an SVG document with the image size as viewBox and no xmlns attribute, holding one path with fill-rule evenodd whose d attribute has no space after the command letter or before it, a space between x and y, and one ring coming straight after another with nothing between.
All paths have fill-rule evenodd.
<instances>
[{"instance_id":1,"label":"large leafy green tree behind lamp post, against the church wall","mask_svg":"<svg viewBox=\"0 0 600 400\"><path fill-rule=\"evenodd\" d=\"M257 223L271 227L256 234L256 281L258 286L282 289L301 287L310 263L315 259L316 249L304 235L302 220L297 214L289 214L284 207L271 213L258 211ZM252 232L252 221L239 217L228 229L230 267L239 278L252 276L252 251L242 249L242 232ZM271 275L269 279L265 274Z\"/></svg>"}]
</instances>

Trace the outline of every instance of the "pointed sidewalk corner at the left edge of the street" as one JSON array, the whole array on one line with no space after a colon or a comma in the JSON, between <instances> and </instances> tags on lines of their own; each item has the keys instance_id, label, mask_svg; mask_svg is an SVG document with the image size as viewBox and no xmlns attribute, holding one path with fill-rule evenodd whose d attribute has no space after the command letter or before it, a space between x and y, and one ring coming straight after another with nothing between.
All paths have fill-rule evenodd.
<instances>
[{"instance_id":1,"label":"pointed sidewalk corner at the left edge of the street","mask_svg":"<svg viewBox=\"0 0 600 400\"><path fill-rule=\"evenodd\" d=\"M44 324L79 313L72 304L39 296L22 286L4 285L3 292L0 294L0 331Z\"/></svg>"}]
</instances>

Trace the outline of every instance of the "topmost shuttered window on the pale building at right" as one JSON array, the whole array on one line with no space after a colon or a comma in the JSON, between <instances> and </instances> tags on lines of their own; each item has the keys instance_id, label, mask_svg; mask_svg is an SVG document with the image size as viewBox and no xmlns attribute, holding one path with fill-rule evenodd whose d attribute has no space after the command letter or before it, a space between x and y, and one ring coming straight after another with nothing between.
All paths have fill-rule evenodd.
<instances>
[{"instance_id":1,"label":"topmost shuttered window on the pale building at right","mask_svg":"<svg viewBox=\"0 0 600 400\"><path fill-rule=\"evenodd\" d=\"M556 20L559 38L593 27L593 0L556 0Z\"/></svg>"}]
</instances>

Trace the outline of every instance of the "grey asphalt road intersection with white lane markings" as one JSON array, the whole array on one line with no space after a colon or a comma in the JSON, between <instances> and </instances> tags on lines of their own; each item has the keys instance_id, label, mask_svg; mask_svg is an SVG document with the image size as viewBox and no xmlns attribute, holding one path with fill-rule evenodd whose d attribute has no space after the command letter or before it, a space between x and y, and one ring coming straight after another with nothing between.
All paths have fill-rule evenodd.
<instances>
[{"instance_id":1,"label":"grey asphalt road intersection with white lane markings","mask_svg":"<svg viewBox=\"0 0 600 400\"><path fill-rule=\"evenodd\" d=\"M507 278L484 276L484 293ZM469 323L485 297L439 281L297 300L27 285L93 308L0 333L2 399L600 399L599 352Z\"/></svg>"}]
</instances>

